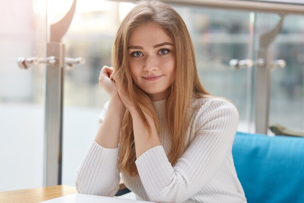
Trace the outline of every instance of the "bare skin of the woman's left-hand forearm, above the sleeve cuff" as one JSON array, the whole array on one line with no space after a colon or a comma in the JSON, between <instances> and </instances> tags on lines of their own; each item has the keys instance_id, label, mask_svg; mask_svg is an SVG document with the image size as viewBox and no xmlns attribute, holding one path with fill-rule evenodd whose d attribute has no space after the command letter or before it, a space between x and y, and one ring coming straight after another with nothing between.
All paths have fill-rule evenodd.
<instances>
[{"instance_id":1,"label":"bare skin of the woman's left-hand forearm, above the sleeve cuff","mask_svg":"<svg viewBox=\"0 0 304 203\"><path fill-rule=\"evenodd\" d=\"M98 130L95 142L103 148L117 148L121 121L125 107L119 98L113 97L108 106L106 115Z\"/></svg>"}]
</instances>

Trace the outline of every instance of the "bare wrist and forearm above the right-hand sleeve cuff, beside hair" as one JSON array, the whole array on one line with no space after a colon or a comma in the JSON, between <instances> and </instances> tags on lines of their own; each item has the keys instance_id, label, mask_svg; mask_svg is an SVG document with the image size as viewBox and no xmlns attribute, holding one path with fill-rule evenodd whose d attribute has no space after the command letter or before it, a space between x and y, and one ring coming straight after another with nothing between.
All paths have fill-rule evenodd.
<instances>
[{"instance_id":1,"label":"bare wrist and forearm above the right-hand sleeve cuff, beside hair","mask_svg":"<svg viewBox=\"0 0 304 203\"><path fill-rule=\"evenodd\" d=\"M132 113L136 159L149 149L161 145L154 121L151 116L147 114L146 117L152 131L151 139L149 139L148 130L145 128L138 114Z\"/></svg>"}]
</instances>

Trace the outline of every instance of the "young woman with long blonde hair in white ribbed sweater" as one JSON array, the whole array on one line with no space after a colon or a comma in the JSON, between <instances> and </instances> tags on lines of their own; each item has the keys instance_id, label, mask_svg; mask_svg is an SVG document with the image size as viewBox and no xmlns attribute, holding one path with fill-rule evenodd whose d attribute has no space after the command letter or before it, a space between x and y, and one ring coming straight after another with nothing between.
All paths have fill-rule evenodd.
<instances>
[{"instance_id":1,"label":"young woman with long blonde hair in white ribbed sweater","mask_svg":"<svg viewBox=\"0 0 304 203\"><path fill-rule=\"evenodd\" d=\"M245 203L231 153L237 110L203 89L176 11L139 2L118 28L112 60L99 79L111 99L78 170L78 192L114 196L121 172L138 200Z\"/></svg>"}]
</instances>

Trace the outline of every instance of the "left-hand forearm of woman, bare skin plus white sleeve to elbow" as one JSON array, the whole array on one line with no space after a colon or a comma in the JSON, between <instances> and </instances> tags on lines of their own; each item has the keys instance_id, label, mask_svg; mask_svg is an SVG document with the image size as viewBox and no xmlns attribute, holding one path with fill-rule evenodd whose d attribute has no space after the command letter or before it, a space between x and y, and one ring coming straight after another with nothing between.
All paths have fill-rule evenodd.
<instances>
[{"instance_id":1,"label":"left-hand forearm of woman, bare skin plus white sleeve to elbow","mask_svg":"<svg viewBox=\"0 0 304 203\"><path fill-rule=\"evenodd\" d=\"M118 137L125 111L120 104L117 98L113 98L106 108L95 142L77 172L76 188L79 193L114 196L118 191Z\"/></svg>"}]
</instances>

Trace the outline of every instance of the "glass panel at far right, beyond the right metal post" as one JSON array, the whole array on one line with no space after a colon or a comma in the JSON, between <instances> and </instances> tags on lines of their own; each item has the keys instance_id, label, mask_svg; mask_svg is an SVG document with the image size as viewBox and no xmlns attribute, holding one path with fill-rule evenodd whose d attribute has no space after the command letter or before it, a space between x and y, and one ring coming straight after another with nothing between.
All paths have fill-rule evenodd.
<instances>
[{"instance_id":1,"label":"glass panel at far right, beyond the right metal post","mask_svg":"<svg viewBox=\"0 0 304 203\"><path fill-rule=\"evenodd\" d=\"M276 26L280 16L258 13L256 32L265 33ZM304 130L304 16L288 15L281 32L270 46L272 60L284 59L285 68L271 71L270 122ZM272 134L269 131L270 134Z\"/></svg>"}]
</instances>

